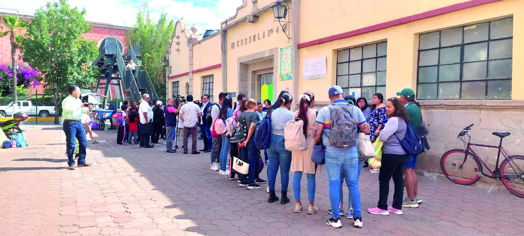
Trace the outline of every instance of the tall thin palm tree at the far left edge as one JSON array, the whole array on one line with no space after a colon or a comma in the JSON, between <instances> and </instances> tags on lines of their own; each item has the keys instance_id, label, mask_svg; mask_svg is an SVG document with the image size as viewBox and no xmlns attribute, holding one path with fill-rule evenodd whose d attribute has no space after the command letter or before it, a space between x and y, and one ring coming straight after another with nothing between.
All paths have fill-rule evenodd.
<instances>
[{"instance_id":1,"label":"tall thin palm tree at the far left edge","mask_svg":"<svg viewBox=\"0 0 524 236\"><path fill-rule=\"evenodd\" d=\"M16 32L25 29L28 26L27 20L20 20L18 16L2 16L4 24L6 26L6 31L3 31L3 28L0 28L0 37L9 35L9 41L11 43L11 59L12 59L12 70L13 70L13 115L16 112L17 98L16 98Z\"/></svg>"}]
</instances>

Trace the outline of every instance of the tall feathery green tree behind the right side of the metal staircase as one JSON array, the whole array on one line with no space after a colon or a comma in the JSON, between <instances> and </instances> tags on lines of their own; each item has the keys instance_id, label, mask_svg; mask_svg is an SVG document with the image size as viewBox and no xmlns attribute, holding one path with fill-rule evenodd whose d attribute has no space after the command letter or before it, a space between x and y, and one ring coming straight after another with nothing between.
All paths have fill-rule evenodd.
<instances>
[{"instance_id":1,"label":"tall feathery green tree behind the right side of the metal staircase","mask_svg":"<svg viewBox=\"0 0 524 236\"><path fill-rule=\"evenodd\" d=\"M174 20L168 20L167 14L162 13L158 21L153 22L149 17L147 4L143 4L136 15L133 29L129 30L126 36L129 40L140 41L142 69L147 70L160 98L163 97L163 92L160 91L166 91L167 86L166 69L162 66L162 60L166 56L173 32Z\"/></svg>"}]
</instances>

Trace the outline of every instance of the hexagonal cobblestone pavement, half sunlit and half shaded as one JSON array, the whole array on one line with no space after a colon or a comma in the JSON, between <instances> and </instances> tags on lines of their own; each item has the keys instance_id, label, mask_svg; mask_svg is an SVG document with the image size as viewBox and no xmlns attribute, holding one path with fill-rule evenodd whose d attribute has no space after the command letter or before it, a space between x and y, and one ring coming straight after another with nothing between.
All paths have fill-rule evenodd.
<instances>
[{"instance_id":1,"label":"hexagonal cobblestone pavement, half sunlit and half shaded","mask_svg":"<svg viewBox=\"0 0 524 236\"><path fill-rule=\"evenodd\" d=\"M343 228L333 229L324 224L329 218L325 171L316 177L315 205L321 211L293 213L293 201L267 203L266 185L240 188L211 171L209 153L184 155L178 149L169 154L165 145L117 146L115 130L94 131L101 143L89 145L86 159L93 165L71 171L61 126L26 124L26 129L28 147L0 149L0 235L524 233L524 199L500 185L487 194L488 184L460 186L435 175L419 176L424 200L419 208L404 208L402 216L376 216L366 209L376 206L378 175L364 170L364 228L353 228L352 221L343 218ZM304 177L302 199L307 202L305 182ZM277 191L279 183L277 179Z\"/></svg>"}]
</instances>

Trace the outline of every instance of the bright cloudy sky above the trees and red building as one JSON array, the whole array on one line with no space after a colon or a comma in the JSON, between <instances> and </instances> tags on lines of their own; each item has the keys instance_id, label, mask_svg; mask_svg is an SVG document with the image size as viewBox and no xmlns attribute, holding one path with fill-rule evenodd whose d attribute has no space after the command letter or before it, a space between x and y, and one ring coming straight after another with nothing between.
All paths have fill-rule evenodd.
<instances>
[{"instance_id":1,"label":"bright cloudy sky above the trees and red building","mask_svg":"<svg viewBox=\"0 0 524 236\"><path fill-rule=\"evenodd\" d=\"M0 12L34 15L36 9L55 0L0 0ZM156 20L162 12L169 19L195 25L199 33L206 29L219 29L220 23L234 16L242 0L69 0L71 7L85 8L85 19L90 22L118 26L133 26L136 13L147 3L149 16ZM107 9L107 10L106 10Z\"/></svg>"}]
</instances>

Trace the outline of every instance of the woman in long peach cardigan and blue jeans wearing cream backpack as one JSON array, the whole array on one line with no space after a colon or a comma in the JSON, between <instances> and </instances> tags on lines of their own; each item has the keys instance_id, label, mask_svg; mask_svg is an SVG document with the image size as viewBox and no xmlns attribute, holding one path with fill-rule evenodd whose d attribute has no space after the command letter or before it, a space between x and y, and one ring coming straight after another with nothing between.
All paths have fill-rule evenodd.
<instances>
[{"instance_id":1,"label":"woman in long peach cardigan and blue jeans wearing cream backpack","mask_svg":"<svg viewBox=\"0 0 524 236\"><path fill-rule=\"evenodd\" d=\"M315 201L315 174L316 168L315 163L311 161L311 154L313 153L313 130L315 128L316 110L313 109L315 105L315 95L312 92L304 92L299 96L300 105L299 109L294 112L295 119L302 120L304 122L303 131L305 135L305 141L308 142L308 148L300 152L291 153L291 171L293 172L293 195L297 202L295 204L294 212L300 213L303 209L302 202L300 200L300 181L302 179L302 173L305 173L308 177L308 214L314 214L319 212L319 208L314 205Z\"/></svg>"}]
</instances>

